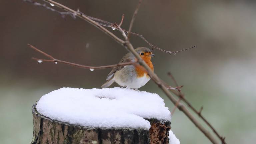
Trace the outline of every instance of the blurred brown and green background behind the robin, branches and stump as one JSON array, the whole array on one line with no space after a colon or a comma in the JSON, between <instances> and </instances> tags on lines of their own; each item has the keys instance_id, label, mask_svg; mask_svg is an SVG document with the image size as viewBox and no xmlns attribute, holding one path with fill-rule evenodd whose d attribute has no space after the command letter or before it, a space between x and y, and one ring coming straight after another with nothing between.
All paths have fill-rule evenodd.
<instances>
[{"instance_id":1,"label":"blurred brown and green background behind the robin, branches and stump","mask_svg":"<svg viewBox=\"0 0 256 144\"><path fill-rule=\"evenodd\" d=\"M124 14L126 29L138 3L58 2L110 22L119 22ZM184 85L186 98L197 109L204 106L202 114L230 144L256 141L255 7L253 0L144 0L133 27L133 32L166 50L197 46L176 55L154 50L155 73L172 85L167 76L171 71L178 84ZM127 51L79 18L63 19L22 0L1 0L0 9L0 143L28 144L33 134L31 107L35 101L61 87L100 88L110 69L91 72L63 64L39 64L31 57L45 57L28 48L27 43L58 59L92 66L116 64ZM131 42L134 47L148 46L135 36ZM154 82L140 90L159 94L173 109ZM181 143L210 143L179 110L171 122Z\"/></svg>"}]
</instances>

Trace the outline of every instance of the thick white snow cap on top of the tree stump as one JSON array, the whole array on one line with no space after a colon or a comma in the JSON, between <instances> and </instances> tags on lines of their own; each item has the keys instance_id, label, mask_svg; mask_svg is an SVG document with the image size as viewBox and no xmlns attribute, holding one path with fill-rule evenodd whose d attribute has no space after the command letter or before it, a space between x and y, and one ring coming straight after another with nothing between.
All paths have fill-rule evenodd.
<instances>
[{"instance_id":1,"label":"thick white snow cap on top of the tree stump","mask_svg":"<svg viewBox=\"0 0 256 144\"><path fill-rule=\"evenodd\" d=\"M144 118L171 119L159 95L120 87L61 88L42 96L36 109L51 119L86 127L149 129Z\"/></svg>"}]
</instances>

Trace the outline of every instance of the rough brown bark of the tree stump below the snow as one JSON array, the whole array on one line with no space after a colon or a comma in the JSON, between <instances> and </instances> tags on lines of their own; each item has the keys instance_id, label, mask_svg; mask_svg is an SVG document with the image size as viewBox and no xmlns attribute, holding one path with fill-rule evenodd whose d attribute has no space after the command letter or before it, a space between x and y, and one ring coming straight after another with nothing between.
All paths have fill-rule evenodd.
<instances>
[{"instance_id":1,"label":"rough brown bark of the tree stump below the snow","mask_svg":"<svg viewBox=\"0 0 256 144\"><path fill-rule=\"evenodd\" d=\"M52 120L32 107L31 144L169 144L170 122L147 119L151 128L90 128Z\"/></svg>"}]
</instances>

